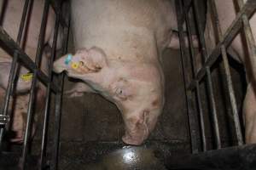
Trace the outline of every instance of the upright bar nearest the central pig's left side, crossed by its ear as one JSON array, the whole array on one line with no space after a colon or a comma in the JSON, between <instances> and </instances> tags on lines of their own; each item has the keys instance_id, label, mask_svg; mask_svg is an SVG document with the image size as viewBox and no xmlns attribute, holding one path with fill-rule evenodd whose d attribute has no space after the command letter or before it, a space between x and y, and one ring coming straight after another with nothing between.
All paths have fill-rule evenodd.
<instances>
[{"instance_id":1,"label":"upright bar nearest the central pig's left side, crossed by its ear","mask_svg":"<svg viewBox=\"0 0 256 170\"><path fill-rule=\"evenodd\" d=\"M67 54L67 44L68 44L68 36L69 36L69 28L70 28L70 4L67 3L66 10L66 22L67 27L64 29L64 40L63 40L63 50L62 54ZM60 132L61 132L61 104L62 104L62 94L63 94L63 85L64 85L64 77L65 74L61 73L58 79L60 81L61 91L55 95L55 136L54 136L54 144L53 144L53 156L52 156L52 169L58 169L59 163L59 145L60 145Z\"/></svg>"}]
</instances>

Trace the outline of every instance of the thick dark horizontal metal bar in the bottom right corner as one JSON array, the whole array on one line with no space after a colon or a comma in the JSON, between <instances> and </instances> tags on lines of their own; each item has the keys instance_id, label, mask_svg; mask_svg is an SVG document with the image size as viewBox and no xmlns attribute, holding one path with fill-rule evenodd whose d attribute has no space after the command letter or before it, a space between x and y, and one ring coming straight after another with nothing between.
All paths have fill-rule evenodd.
<instances>
[{"instance_id":1,"label":"thick dark horizontal metal bar in the bottom right corner","mask_svg":"<svg viewBox=\"0 0 256 170\"><path fill-rule=\"evenodd\" d=\"M166 157L168 169L253 170L256 167L256 144L209 150L194 155Z\"/></svg>"}]
</instances>

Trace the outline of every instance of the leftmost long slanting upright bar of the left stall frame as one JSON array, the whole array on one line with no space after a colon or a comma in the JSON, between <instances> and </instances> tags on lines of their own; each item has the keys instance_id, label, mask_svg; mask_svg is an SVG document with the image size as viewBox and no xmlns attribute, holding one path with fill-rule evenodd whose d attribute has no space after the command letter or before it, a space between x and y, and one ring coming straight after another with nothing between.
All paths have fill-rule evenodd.
<instances>
[{"instance_id":1,"label":"leftmost long slanting upright bar of the left stall frame","mask_svg":"<svg viewBox=\"0 0 256 170\"><path fill-rule=\"evenodd\" d=\"M32 1L26 0L26 2L24 3L24 6L23 6L22 16L21 16L21 20L20 20L20 28L19 28L18 37L16 40L18 46L20 46L20 42L22 40L23 31L26 26L25 25L26 18L27 18L27 14L29 11L28 8L31 7L31 5L32 5ZM3 115L4 116L8 115L9 99L10 99L11 93L15 87L15 77L17 77L18 59L19 59L19 53L18 53L18 51L15 51L14 59L12 61L12 65L11 65L11 69L10 69L10 73L9 73L8 86L7 86L6 94L4 97L4 103L3 103ZM1 145L3 142L3 133L4 133L4 128L1 128L1 130L0 130L0 148L1 148Z\"/></svg>"}]
</instances>

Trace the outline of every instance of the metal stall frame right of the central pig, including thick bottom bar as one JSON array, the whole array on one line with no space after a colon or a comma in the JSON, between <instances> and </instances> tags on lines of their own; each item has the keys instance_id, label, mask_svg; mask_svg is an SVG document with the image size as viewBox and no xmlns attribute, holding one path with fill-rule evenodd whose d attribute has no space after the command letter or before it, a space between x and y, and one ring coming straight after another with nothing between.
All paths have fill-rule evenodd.
<instances>
[{"instance_id":1,"label":"metal stall frame right of the central pig, including thick bottom bar","mask_svg":"<svg viewBox=\"0 0 256 170\"><path fill-rule=\"evenodd\" d=\"M233 20L230 27L226 32L221 31L218 20L218 13L214 0L208 0L211 5L211 13L214 19L214 25L217 28L218 44L216 48L212 50L211 54L208 54L206 48L206 42L204 37L204 30L199 18L199 9L197 8L197 0L176 0L177 11L177 26L179 33L179 41L181 47L181 57L183 65L183 77L185 83L187 109L189 117L189 129L191 139L191 155L187 156L172 156L166 161L166 166L170 169L255 169L256 167L256 144L244 144L244 139L241 133L241 124L238 116L236 98L234 88L232 85L230 75L230 65L228 62L226 48L230 46L230 43L241 31L245 32L247 40L247 48L249 59L256 65L256 46L253 39L251 27L249 25L249 19L253 16L256 10L256 1L247 0L243 3L242 0L236 0L239 6L239 13L236 15L236 19ZM201 54L204 59L204 64L201 69L196 72L195 68L195 52L192 42L192 33L190 30L191 21L189 20L189 10L195 15L195 26L198 31L198 39L201 45ZM183 24L186 24L186 29L189 35L189 52L186 49L185 33L183 31ZM218 115L216 110L216 103L214 99L214 89L212 88L211 66L217 61L219 57L222 57L223 64L220 65L224 71L225 83L230 99L231 111L233 113L234 127L236 130L237 145L222 148L221 140L219 136L218 128ZM189 65L192 67L192 75ZM256 67L253 67L255 70ZM253 71L256 72L256 71ZM192 78L191 78L192 77ZM207 82L207 94L209 96L209 103L211 108L214 141L216 150L207 150L207 139L205 133L204 113L202 111L201 94L199 83L206 77ZM193 97L195 93L195 98ZM195 113L195 104L198 108L198 114ZM198 118L197 118L198 117ZM197 120L199 119L199 120ZM199 122L199 123L198 123ZM200 129L200 132L197 132ZM200 135L201 134L201 135ZM201 136L201 141L198 141L198 136ZM200 151L202 150L202 151Z\"/></svg>"}]
</instances>

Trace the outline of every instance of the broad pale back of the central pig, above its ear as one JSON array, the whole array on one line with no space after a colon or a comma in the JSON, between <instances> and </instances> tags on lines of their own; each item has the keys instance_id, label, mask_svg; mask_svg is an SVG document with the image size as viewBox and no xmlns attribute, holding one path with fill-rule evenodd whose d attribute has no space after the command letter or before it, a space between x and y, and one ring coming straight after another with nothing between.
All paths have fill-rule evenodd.
<instances>
[{"instance_id":1,"label":"broad pale back of the central pig, above its ear","mask_svg":"<svg viewBox=\"0 0 256 170\"><path fill-rule=\"evenodd\" d=\"M97 46L109 59L154 59L176 25L173 12L165 0L73 1L75 47Z\"/></svg>"}]
</instances>

